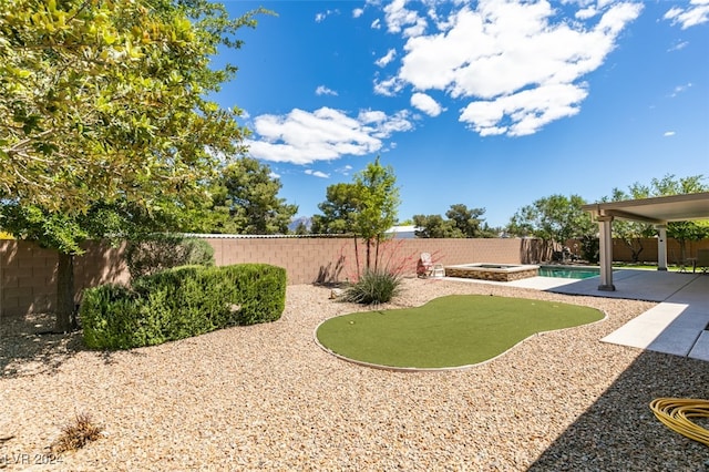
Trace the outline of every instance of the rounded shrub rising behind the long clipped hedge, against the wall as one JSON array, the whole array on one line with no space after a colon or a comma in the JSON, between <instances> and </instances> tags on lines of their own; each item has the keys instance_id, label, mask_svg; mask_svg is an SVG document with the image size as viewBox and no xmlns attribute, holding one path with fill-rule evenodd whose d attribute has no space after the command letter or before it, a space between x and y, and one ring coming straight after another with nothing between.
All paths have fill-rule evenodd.
<instances>
[{"instance_id":1,"label":"rounded shrub rising behind the long clipped hedge, against the wall","mask_svg":"<svg viewBox=\"0 0 709 472\"><path fill-rule=\"evenodd\" d=\"M125 264L131 278L136 279L172 267L214 266L214 248L204 239L181 235L153 235L130 242Z\"/></svg>"}]
</instances>

